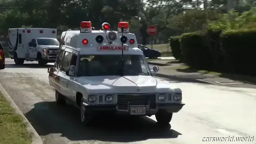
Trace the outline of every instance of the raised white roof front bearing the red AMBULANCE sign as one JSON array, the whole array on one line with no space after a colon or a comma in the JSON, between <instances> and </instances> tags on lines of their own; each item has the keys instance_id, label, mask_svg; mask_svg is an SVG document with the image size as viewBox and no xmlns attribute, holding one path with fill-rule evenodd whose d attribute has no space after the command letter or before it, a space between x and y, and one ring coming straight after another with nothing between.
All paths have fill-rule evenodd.
<instances>
[{"instance_id":1,"label":"raised white roof front bearing the red AMBULANCE sign","mask_svg":"<svg viewBox=\"0 0 256 144\"><path fill-rule=\"evenodd\" d=\"M127 42L122 47L122 42L120 40L122 33L117 34L117 39L109 44L107 40L107 34L110 31L103 31L103 30L92 30L89 33L80 33L80 30L68 30L63 32L63 41L64 45L71 46L72 48L78 49L81 55L93 55L93 54L100 54L100 55L120 55L122 54L131 54L131 55L143 55L142 50L138 49L138 44L136 41L135 34L132 33L123 33L124 36L128 38ZM98 43L96 41L96 37L98 35L102 35L103 42ZM83 40L87 39L87 44L83 44ZM133 39L133 44L129 43L129 40ZM121 49L120 49L121 48Z\"/></svg>"}]
</instances>

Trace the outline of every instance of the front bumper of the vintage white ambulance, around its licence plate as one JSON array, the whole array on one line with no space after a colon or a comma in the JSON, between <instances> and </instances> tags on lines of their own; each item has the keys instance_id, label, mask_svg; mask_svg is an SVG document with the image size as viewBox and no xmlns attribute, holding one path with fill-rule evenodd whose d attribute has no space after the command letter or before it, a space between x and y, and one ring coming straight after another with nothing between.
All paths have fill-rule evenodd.
<instances>
[{"instance_id":1,"label":"front bumper of the vintage white ambulance, around its licence plate","mask_svg":"<svg viewBox=\"0 0 256 144\"><path fill-rule=\"evenodd\" d=\"M83 102L83 106L86 106L87 111L111 111L120 115L131 115L131 107L146 107L146 114L138 115L155 115L159 110L166 110L167 113L177 113L182 109L185 103L169 103L169 104L157 104L155 109L149 109L149 105L130 105L126 110L118 109L117 105L88 105Z\"/></svg>"}]
</instances>

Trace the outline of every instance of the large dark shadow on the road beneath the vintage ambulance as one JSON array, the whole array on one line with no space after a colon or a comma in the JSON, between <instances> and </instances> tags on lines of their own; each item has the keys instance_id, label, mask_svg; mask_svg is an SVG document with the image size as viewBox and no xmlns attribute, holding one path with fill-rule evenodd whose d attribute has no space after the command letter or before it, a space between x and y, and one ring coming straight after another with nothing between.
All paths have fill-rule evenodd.
<instances>
[{"instance_id":1,"label":"large dark shadow on the road beneath the vintage ambulance","mask_svg":"<svg viewBox=\"0 0 256 144\"><path fill-rule=\"evenodd\" d=\"M80 122L79 110L71 105L57 106L55 102L39 102L25 114L40 136L61 133L71 141L112 141L133 142L147 139L177 138L177 131L161 128L148 117L100 117L93 126L87 127Z\"/></svg>"}]
</instances>

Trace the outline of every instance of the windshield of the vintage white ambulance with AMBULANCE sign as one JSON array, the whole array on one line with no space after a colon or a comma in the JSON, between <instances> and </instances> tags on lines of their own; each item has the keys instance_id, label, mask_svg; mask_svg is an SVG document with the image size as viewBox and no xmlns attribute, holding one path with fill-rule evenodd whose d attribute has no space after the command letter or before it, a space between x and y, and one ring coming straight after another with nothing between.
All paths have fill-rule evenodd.
<instances>
[{"instance_id":1,"label":"windshield of the vintage white ambulance with AMBULANCE sign","mask_svg":"<svg viewBox=\"0 0 256 144\"><path fill-rule=\"evenodd\" d=\"M113 76L122 72L120 55L81 55L78 76ZM124 55L124 76L150 75L142 55Z\"/></svg>"}]
</instances>

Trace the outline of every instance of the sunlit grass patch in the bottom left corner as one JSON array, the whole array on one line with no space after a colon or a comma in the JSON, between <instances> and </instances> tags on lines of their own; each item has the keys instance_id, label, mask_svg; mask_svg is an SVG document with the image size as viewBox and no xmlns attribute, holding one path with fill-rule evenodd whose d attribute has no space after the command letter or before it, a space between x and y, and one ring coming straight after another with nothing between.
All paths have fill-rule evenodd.
<instances>
[{"instance_id":1,"label":"sunlit grass patch in the bottom left corner","mask_svg":"<svg viewBox=\"0 0 256 144\"><path fill-rule=\"evenodd\" d=\"M22 116L15 113L0 92L0 144L31 144Z\"/></svg>"}]
</instances>

